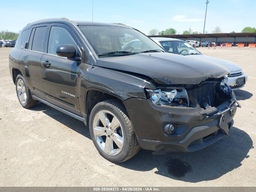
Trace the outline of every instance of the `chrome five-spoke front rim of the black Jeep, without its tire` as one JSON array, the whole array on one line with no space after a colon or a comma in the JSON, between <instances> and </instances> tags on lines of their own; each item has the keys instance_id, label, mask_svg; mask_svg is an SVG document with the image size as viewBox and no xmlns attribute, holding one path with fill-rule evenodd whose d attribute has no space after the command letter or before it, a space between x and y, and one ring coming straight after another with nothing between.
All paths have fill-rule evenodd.
<instances>
[{"instance_id":1,"label":"chrome five-spoke front rim of the black Jeep, without its tire","mask_svg":"<svg viewBox=\"0 0 256 192\"><path fill-rule=\"evenodd\" d=\"M93 133L101 150L117 155L124 145L123 130L117 117L107 110L99 111L93 120Z\"/></svg>"}]
</instances>

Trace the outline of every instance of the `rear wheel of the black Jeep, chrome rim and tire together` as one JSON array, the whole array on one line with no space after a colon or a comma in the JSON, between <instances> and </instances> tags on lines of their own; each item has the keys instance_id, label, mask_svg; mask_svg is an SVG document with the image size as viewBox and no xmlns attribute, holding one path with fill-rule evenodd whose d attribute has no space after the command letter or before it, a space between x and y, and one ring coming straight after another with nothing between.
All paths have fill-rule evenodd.
<instances>
[{"instance_id":1,"label":"rear wheel of the black Jeep, chrome rim and tire together","mask_svg":"<svg viewBox=\"0 0 256 192\"><path fill-rule=\"evenodd\" d=\"M16 78L16 93L20 104L24 108L34 107L38 103L38 100L32 98L30 89L28 88L24 77L21 75L18 75Z\"/></svg>"}]
</instances>

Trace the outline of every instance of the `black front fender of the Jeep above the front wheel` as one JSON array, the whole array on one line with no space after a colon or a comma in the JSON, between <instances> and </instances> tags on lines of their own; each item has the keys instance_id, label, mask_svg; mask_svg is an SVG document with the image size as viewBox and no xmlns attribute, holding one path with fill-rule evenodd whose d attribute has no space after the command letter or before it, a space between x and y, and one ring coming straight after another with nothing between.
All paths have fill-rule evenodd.
<instances>
[{"instance_id":1,"label":"black front fender of the Jeep above the front wheel","mask_svg":"<svg viewBox=\"0 0 256 192\"><path fill-rule=\"evenodd\" d=\"M98 90L108 93L121 101L130 98L146 99L144 89L156 89L156 87L139 77L126 73L105 69L83 63L79 71L79 101L82 113L85 113L83 103L89 90ZM86 114L86 113L85 113Z\"/></svg>"}]
</instances>

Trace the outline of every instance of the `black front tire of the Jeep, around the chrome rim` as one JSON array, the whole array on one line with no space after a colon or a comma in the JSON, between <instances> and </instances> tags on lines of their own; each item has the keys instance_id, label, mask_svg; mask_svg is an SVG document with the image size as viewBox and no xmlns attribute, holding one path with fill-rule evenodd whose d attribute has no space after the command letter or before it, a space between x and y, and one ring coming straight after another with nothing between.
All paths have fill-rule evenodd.
<instances>
[{"instance_id":1,"label":"black front tire of the Jeep, around the chrome rim","mask_svg":"<svg viewBox=\"0 0 256 192\"><path fill-rule=\"evenodd\" d=\"M95 140L93 131L93 121L96 114L102 110L107 110L113 113L117 117L123 129L124 144L121 149L121 152L118 153L117 155L109 155L105 153L104 150L102 150L99 147L97 141ZM128 113L125 109L125 106L122 103L118 102L118 100L109 99L102 101L94 106L89 118L89 130L91 134L91 140L93 141L100 155L112 163L124 162L130 159L131 157L135 156L140 150L138 140L135 136L135 132L131 124L131 120L129 119Z\"/></svg>"}]
</instances>

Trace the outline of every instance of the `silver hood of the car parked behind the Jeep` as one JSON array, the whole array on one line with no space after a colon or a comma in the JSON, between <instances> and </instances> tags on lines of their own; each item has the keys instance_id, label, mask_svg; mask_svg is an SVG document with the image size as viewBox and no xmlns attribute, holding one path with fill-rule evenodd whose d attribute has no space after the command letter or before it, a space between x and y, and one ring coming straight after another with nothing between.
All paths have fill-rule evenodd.
<instances>
[{"instance_id":1,"label":"silver hood of the car parked behind the Jeep","mask_svg":"<svg viewBox=\"0 0 256 192\"><path fill-rule=\"evenodd\" d=\"M214 58L206 55L187 55L187 56L198 58L198 59L204 59L206 61L213 61L214 63L218 63L227 67L230 72L241 70L241 67L239 67L238 65L223 59L218 59L218 58Z\"/></svg>"}]
</instances>

